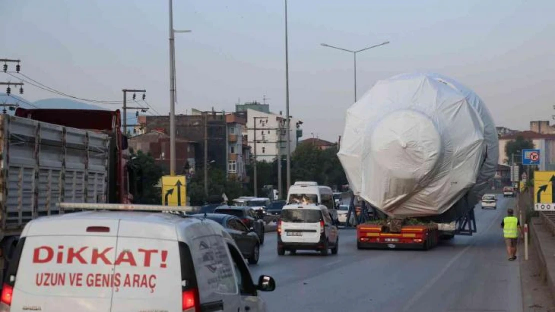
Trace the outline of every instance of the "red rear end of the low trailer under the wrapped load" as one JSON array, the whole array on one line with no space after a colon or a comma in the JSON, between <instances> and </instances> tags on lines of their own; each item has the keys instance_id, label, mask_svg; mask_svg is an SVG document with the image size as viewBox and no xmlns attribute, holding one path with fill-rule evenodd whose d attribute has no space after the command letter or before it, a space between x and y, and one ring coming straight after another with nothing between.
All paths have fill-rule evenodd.
<instances>
[{"instance_id":1,"label":"red rear end of the low trailer under the wrapped load","mask_svg":"<svg viewBox=\"0 0 555 312\"><path fill-rule=\"evenodd\" d=\"M439 241L437 224L402 226L398 233L386 232L380 224L356 227L358 249L430 249Z\"/></svg>"}]
</instances>

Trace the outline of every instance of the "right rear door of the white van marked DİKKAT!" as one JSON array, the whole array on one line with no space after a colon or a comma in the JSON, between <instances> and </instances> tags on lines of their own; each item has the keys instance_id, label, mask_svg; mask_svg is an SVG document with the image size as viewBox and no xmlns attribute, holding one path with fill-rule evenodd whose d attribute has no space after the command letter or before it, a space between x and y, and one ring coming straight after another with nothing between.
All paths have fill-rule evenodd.
<instances>
[{"instance_id":1,"label":"right rear door of the white van marked D\u0130KKAT!","mask_svg":"<svg viewBox=\"0 0 555 312\"><path fill-rule=\"evenodd\" d=\"M191 264L192 265L192 264ZM122 219L112 311L181 311L181 264L176 229Z\"/></svg>"}]
</instances>

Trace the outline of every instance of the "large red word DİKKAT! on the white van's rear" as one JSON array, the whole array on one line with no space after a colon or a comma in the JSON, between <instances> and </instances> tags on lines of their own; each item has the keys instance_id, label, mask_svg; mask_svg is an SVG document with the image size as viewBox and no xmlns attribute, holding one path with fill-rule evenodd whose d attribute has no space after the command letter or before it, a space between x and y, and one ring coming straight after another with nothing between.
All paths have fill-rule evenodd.
<instances>
[{"instance_id":1,"label":"large red word D\u0130KKAT! on the white van's rear","mask_svg":"<svg viewBox=\"0 0 555 312\"><path fill-rule=\"evenodd\" d=\"M113 252L113 249L113 247L107 247L100 250L88 246L66 248L63 245L59 245L57 250L54 251L54 248L50 246L40 246L33 250L33 263L128 264L132 267L137 267L137 265L151 267L154 260L160 263L160 268L165 268L166 261L168 260L168 250L137 248L135 250L122 250L115 257L114 263L112 263L108 254ZM137 261L138 259L139 262ZM158 259L159 261L157 261Z\"/></svg>"}]
</instances>

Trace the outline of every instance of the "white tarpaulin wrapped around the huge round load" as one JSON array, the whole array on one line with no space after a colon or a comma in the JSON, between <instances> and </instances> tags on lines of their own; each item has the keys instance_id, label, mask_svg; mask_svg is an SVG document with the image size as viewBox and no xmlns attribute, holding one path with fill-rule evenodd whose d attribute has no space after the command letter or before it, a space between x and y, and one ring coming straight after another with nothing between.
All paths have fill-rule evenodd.
<instances>
[{"instance_id":1,"label":"white tarpaulin wrapped around the huge round load","mask_svg":"<svg viewBox=\"0 0 555 312\"><path fill-rule=\"evenodd\" d=\"M355 195L391 217L434 216L495 175L495 124L472 90L439 74L378 81L347 110L337 154Z\"/></svg>"}]
</instances>

